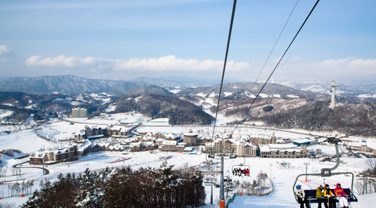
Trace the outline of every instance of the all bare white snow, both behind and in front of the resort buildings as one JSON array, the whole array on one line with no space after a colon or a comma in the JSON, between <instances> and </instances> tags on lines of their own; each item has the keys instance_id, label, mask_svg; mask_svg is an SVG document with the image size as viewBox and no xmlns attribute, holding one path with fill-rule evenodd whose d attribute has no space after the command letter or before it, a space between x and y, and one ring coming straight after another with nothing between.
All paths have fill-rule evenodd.
<instances>
[{"instance_id":1,"label":"all bare white snow, both behind and in front of the resort buildings","mask_svg":"<svg viewBox=\"0 0 376 208\"><path fill-rule=\"evenodd\" d=\"M63 141L65 138L70 137L74 132L84 129L86 124L97 125L101 124L107 126L108 124L119 124L119 120L124 119L137 119L126 117L127 115L113 115L107 119L74 119L75 123L70 124L70 122L53 122L48 125L41 126L38 130L38 134L42 134L48 138L53 138L58 141ZM120 119L119 119L120 118ZM146 118L143 118L146 119ZM112 123L113 122L113 123ZM161 132L171 132L171 133L187 133L190 129L193 131L199 131L205 135L211 136L212 126L142 126L138 131L161 131ZM218 126L216 127L217 132L231 132L233 127L228 126ZM275 136L290 138L292 140L305 138L306 134L311 132L308 131L299 131L299 133L291 133L286 131L278 131L277 129L259 129L259 128L240 128L235 130L235 133L238 134L275 134ZM330 135L331 133L317 133L320 135ZM332 133L334 135L334 133ZM28 131L18 131L18 133L4 134L0 136L0 150L1 149L18 149L22 152L34 152L41 148L56 148L56 146L64 145L62 143L51 143L45 141L42 138L36 136L36 133L32 130ZM328 154L334 154L335 148L330 145L315 145L311 146L309 149L317 150L320 149L323 152ZM79 174L84 171L84 169L89 168L91 171L96 171L104 169L105 167L124 167L131 166L134 169L139 167L160 167L163 160L160 160L161 157L169 158L167 160L168 164L173 164L176 169L183 167L183 164L188 164L189 167L197 166L201 162L207 160L205 154L197 152L197 155L188 155L179 152L157 152L152 154L150 152L131 152L127 155L123 155L124 152L96 152L93 154L86 155L84 157L79 157L79 160L76 162L66 162L61 164L48 165L47 168L51 171L48 175L43 175L40 169L33 168L22 168L20 176L9 176L11 175L11 167L14 164L18 164L28 159L15 160L13 157L8 157L3 155L3 163L1 165L8 167L8 176L6 178L0 178L1 181L11 181L11 180L23 180L26 178L33 178L36 182L34 183L34 190L39 188L39 181L48 178L49 180L56 180L58 174L66 174L68 172ZM18 156L18 155L15 155ZM129 160L124 160L121 162L116 162L119 159L129 158ZM232 176L231 170L234 166L244 163L250 167L250 176ZM340 164L335 171L350 171L354 174L365 169L365 158L349 158L342 157L341 160L346 162L346 164ZM219 157L216 157L214 161L219 162ZM274 184L274 191L271 195L262 196L262 197L246 197L246 196L237 196L233 203L229 207L299 207L299 204L295 202L293 195L293 185L296 177L299 174L316 173L319 172L322 168L330 168L335 164L332 162L319 162L318 160L311 160L309 158L304 159L260 159L260 158L243 158L238 157L236 159L226 159L224 165L225 176L231 176L233 180L242 181L253 181L256 179L257 174L264 172L269 177ZM289 167L282 167L281 163L290 164ZM304 163L309 163L309 165L304 165ZM22 164L21 167L29 167L29 164ZM219 178L219 176L216 176ZM299 178L298 183L303 186L303 188L310 189L316 188L320 184L324 183L324 178L318 176L309 176L308 182L305 182L305 178ZM3 185L0 185L0 197L3 197L1 202L11 202L17 205L20 205L27 201L27 197L7 197L8 196L8 183L6 182ZM331 188L334 188L335 183L342 183L342 187L351 186L351 177L341 175L341 176L332 176L325 178L325 183L328 183ZM207 193L207 207L219 207L219 188L214 188L214 204L209 205L210 202L210 186L205 186ZM355 193L357 192L354 187ZM231 194L229 194L231 196ZM29 195L30 196L30 195ZM360 207L373 207L376 204L376 194L370 195L357 195L359 202L354 202L351 204L354 208ZM316 207L316 204L313 204L312 207Z\"/></svg>"}]
</instances>

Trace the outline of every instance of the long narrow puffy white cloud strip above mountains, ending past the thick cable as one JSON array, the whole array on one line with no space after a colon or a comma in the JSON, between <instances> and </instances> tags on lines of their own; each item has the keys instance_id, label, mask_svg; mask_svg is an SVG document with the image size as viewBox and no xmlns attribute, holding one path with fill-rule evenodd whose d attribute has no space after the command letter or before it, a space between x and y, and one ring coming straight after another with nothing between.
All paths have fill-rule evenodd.
<instances>
[{"instance_id":1,"label":"long narrow puffy white cloud strip above mountains, ending past the thick cable","mask_svg":"<svg viewBox=\"0 0 376 208\"><path fill-rule=\"evenodd\" d=\"M107 58L78 56L57 56L52 58L41 58L41 56L32 56L25 62L28 66L44 67L74 67L74 68L97 68L112 69L115 71L139 70L139 71L171 71L171 70L193 70L193 71L212 71L222 70L223 61L221 60L196 60L182 59L176 56L163 56L161 58L131 58L129 60L114 60ZM244 70L248 63L235 63L231 60L227 63L228 70Z\"/></svg>"}]
</instances>

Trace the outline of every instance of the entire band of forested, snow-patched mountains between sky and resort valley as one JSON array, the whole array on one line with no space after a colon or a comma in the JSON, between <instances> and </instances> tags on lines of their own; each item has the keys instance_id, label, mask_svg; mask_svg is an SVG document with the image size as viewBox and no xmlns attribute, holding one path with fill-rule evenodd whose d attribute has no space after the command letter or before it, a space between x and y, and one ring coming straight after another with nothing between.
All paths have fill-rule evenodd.
<instances>
[{"instance_id":1,"label":"entire band of forested, snow-patched mountains between sky and resort valley","mask_svg":"<svg viewBox=\"0 0 376 208\"><path fill-rule=\"evenodd\" d=\"M376 127L374 86L340 84L343 87L336 90L339 104L335 110L329 108L329 86L321 82L274 82L264 87L250 82L226 83L222 86L218 114L228 124L261 122L280 128L344 133ZM152 119L167 117L170 124L205 125L214 122L219 89L219 84L202 81L146 77L128 81L73 75L13 77L0 83L0 110L13 111L3 119L17 122L31 114L34 119L57 117L58 113L70 115L72 108L81 107L91 117L101 112L137 111Z\"/></svg>"}]
</instances>

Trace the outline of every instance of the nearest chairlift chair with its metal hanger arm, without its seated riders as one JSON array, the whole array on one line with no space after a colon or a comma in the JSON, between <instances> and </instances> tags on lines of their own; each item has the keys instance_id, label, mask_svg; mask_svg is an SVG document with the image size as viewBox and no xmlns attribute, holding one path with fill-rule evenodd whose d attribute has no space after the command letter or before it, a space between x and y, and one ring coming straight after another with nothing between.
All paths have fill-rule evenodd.
<instances>
[{"instance_id":1,"label":"nearest chairlift chair with its metal hanger arm, without its seated riders","mask_svg":"<svg viewBox=\"0 0 376 208\"><path fill-rule=\"evenodd\" d=\"M337 155L337 163L335 164L334 167L332 168L323 168L321 169L320 173L312 173L312 174L300 174L297 176L294 182L294 186L292 186L292 191L294 193L295 200L299 203L297 195L294 192L294 188L297 185L297 181L299 180L300 177L302 176L321 176L321 177L330 177L330 176L336 176L336 175L351 175L351 188L344 188L344 192L346 195L349 195L349 197L346 197L346 200L350 202L358 202L358 198L354 195L354 192L352 191L354 188L354 174L346 171L346 172L332 172L333 170L337 169L339 166L339 150L338 150L338 142L341 141L338 138L328 138L329 143L334 143L335 144L335 152ZM325 181L325 180L324 180ZM316 190L304 190L304 193L306 193L306 198L309 200L309 204L311 203L317 203L316 200Z\"/></svg>"}]
</instances>

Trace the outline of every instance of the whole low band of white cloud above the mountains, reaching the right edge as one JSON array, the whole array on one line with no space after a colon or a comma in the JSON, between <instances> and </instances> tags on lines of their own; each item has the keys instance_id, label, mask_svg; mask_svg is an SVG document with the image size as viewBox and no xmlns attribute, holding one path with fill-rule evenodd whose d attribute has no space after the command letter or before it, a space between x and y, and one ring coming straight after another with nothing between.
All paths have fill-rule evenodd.
<instances>
[{"instance_id":1,"label":"whole low band of white cloud above the mountains, reaching the right edge","mask_svg":"<svg viewBox=\"0 0 376 208\"><path fill-rule=\"evenodd\" d=\"M281 64L272 79L295 82L348 82L351 84L372 84L376 77L376 59L341 58L316 63L299 63L292 59ZM57 56L41 58L32 56L25 62L28 66L44 66L55 74L76 74L96 79L130 79L134 77L193 77L200 79L221 79L223 60L197 60L163 56L160 58L109 59L98 57ZM249 63L228 61L225 79L231 82L254 82L259 71ZM41 70L41 69L40 69ZM269 72L268 72L269 70ZM265 69L260 80L266 79L270 69ZM329 80L329 81L328 81Z\"/></svg>"}]
</instances>

